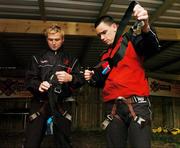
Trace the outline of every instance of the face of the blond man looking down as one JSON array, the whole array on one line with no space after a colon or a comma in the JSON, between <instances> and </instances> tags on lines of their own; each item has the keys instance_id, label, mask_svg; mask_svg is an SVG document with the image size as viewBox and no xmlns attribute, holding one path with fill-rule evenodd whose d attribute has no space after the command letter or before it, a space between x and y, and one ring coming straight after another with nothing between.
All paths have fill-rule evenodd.
<instances>
[{"instance_id":1,"label":"face of the blond man looking down","mask_svg":"<svg viewBox=\"0 0 180 148\"><path fill-rule=\"evenodd\" d=\"M51 50L57 51L62 46L64 37L62 37L59 32L49 33L47 36L47 42Z\"/></svg>"}]
</instances>

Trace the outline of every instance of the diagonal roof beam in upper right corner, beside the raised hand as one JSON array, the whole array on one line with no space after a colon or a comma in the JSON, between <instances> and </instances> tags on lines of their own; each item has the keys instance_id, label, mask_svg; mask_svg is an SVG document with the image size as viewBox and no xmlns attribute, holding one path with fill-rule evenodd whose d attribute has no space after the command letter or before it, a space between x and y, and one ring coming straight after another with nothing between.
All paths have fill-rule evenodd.
<instances>
[{"instance_id":1,"label":"diagonal roof beam in upper right corner, beside the raised hand","mask_svg":"<svg viewBox=\"0 0 180 148\"><path fill-rule=\"evenodd\" d=\"M150 24L158 19L166 10L168 10L171 5L179 0L165 0L163 5L157 9L157 11L150 17Z\"/></svg>"}]
</instances>

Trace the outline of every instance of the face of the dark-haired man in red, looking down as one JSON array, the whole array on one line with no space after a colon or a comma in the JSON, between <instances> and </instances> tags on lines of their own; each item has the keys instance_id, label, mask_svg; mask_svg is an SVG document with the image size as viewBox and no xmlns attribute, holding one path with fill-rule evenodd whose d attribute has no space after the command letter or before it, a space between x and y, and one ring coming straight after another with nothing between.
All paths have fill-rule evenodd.
<instances>
[{"instance_id":1,"label":"face of the dark-haired man in red, looking down","mask_svg":"<svg viewBox=\"0 0 180 148\"><path fill-rule=\"evenodd\" d=\"M115 23L109 25L104 22L101 22L96 27L97 35L107 45L111 45L114 42L116 31L117 31L117 25Z\"/></svg>"}]
</instances>

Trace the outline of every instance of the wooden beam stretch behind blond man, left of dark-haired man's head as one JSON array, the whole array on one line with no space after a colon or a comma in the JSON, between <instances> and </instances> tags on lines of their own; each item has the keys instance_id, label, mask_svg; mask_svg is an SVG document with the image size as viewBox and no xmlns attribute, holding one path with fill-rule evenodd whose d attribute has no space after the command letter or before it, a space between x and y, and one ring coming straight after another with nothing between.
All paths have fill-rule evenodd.
<instances>
[{"instance_id":1,"label":"wooden beam stretch behind blond man, left of dark-haired man's head","mask_svg":"<svg viewBox=\"0 0 180 148\"><path fill-rule=\"evenodd\" d=\"M0 32L42 34L52 24L60 25L67 35L96 35L94 24L91 23L18 19L0 19Z\"/></svg>"}]
</instances>

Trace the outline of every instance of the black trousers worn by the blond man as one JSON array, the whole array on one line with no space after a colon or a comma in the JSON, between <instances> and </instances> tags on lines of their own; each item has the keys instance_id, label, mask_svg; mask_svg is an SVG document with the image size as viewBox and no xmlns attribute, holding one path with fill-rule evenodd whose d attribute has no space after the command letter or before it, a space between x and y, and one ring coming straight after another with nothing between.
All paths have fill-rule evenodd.
<instances>
[{"instance_id":1,"label":"black trousers worn by the blond man","mask_svg":"<svg viewBox=\"0 0 180 148\"><path fill-rule=\"evenodd\" d=\"M30 114L39 111L42 104L37 100L31 103ZM64 109L71 107L70 102L66 102ZM47 119L51 116L49 106L46 107L46 114L41 114L33 121L29 121L25 131L24 148L39 148L47 128ZM64 116L54 118L53 136L57 148L71 148L71 121Z\"/></svg>"}]
</instances>

